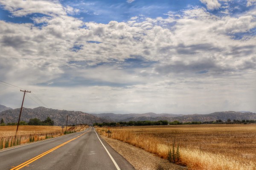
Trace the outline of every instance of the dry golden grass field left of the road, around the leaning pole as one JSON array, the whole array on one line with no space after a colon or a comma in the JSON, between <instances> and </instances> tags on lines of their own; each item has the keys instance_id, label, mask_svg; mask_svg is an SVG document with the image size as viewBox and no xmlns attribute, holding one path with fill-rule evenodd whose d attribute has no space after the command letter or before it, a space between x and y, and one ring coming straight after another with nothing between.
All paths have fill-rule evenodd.
<instances>
[{"instance_id":1,"label":"dry golden grass field left of the road, around the leaning pole","mask_svg":"<svg viewBox=\"0 0 256 170\"><path fill-rule=\"evenodd\" d=\"M67 127L67 131L80 132L86 129L88 126L77 126L77 127ZM0 149L7 148L10 146L15 146L11 142L15 138L17 126L0 126ZM64 131L66 128L64 127ZM46 138L53 138L56 136L63 135L62 127L60 126L19 126L17 133L17 138L20 139L18 144L24 144L31 141L44 140ZM1 140L3 141L1 143ZM9 144L5 144L9 141Z\"/></svg>"}]
</instances>

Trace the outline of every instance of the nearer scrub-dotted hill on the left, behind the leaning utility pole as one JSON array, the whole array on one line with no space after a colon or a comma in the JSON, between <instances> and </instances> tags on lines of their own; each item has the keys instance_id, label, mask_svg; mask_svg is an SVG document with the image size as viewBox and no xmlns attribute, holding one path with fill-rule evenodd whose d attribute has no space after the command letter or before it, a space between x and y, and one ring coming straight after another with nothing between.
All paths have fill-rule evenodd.
<instances>
[{"instance_id":1,"label":"nearer scrub-dotted hill on the left, behind the leaning utility pole","mask_svg":"<svg viewBox=\"0 0 256 170\"><path fill-rule=\"evenodd\" d=\"M0 112L0 118L3 118L5 123L17 122L19 114L20 108L6 110ZM67 124L76 124L76 119L77 124L93 124L95 122L102 123L104 121L109 122L104 118L99 118L84 112L48 109L45 107L37 107L35 109L23 108L20 120L28 122L31 118L39 118L41 121L44 121L49 116L54 121L54 125L66 125L67 115Z\"/></svg>"}]
</instances>

